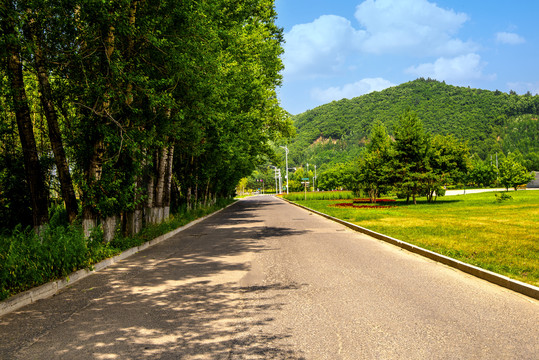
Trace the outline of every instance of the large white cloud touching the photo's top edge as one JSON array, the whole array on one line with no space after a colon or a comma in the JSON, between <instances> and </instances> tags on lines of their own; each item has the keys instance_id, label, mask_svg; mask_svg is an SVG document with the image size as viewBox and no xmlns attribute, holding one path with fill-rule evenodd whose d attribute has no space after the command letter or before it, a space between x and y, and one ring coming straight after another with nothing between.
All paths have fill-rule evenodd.
<instances>
[{"instance_id":1,"label":"large white cloud touching the photo's top edge","mask_svg":"<svg viewBox=\"0 0 539 360\"><path fill-rule=\"evenodd\" d=\"M367 33L365 52L456 56L477 48L454 37L468 21L466 14L427 0L366 0L355 16Z\"/></svg>"}]
</instances>

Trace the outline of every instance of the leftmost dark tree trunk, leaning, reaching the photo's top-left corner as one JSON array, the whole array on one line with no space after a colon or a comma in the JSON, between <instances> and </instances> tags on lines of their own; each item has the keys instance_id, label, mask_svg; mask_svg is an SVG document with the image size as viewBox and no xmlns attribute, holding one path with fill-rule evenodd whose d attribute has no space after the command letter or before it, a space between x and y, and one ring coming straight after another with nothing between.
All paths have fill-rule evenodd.
<instances>
[{"instance_id":1,"label":"leftmost dark tree trunk, leaning, reaching the photo's top-left corner","mask_svg":"<svg viewBox=\"0 0 539 360\"><path fill-rule=\"evenodd\" d=\"M7 73L11 82L13 107L23 149L24 169L30 187L32 220L34 228L39 231L48 222L48 192L41 172L30 108L24 87L20 45L16 40L13 3L11 1L3 2L1 11L1 26L6 40Z\"/></svg>"}]
</instances>

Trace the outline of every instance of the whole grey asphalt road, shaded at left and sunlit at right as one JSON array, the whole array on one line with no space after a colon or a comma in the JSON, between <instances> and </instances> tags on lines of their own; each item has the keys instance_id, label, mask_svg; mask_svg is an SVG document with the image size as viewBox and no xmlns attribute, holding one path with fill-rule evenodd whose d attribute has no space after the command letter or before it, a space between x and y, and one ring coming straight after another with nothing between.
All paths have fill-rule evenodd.
<instances>
[{"instance_id":1,"label":"whole grey asphalt road, shaded at left and sunlit at right","mask_svg":"<svg viewBox=\"0 0 539 360\"><path fill-rule=\"evenodd\" d=\"M539 302L258 196L0 318L0 359L538 359Z\"/></svg>"}]
</instances>

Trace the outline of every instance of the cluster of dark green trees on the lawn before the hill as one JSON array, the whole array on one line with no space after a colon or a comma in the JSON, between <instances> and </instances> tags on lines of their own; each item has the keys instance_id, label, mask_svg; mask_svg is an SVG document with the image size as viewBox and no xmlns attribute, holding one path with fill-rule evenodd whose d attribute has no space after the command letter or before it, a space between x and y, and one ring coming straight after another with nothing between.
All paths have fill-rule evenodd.
<instances>
[{"instance_id":1,"label":"cluster of dark green trees on the lawn before the hill","mask_svg":"<svg viewBox=\"0 0 539 360\"><path fill-rule=\"evenodd\" d=\"M473 159L466 144L451 135L428 135L417 115L407 110L400 116L393 137L382 122L375 122L362 156L323 172L319 186L362 191L371 202L394 191L415 204L419 196L434 201L445 193L447 185L490 186L498 182L516 189L532 179L517 154L500 159L498 167Z\"/></svg>"}]
</instances>

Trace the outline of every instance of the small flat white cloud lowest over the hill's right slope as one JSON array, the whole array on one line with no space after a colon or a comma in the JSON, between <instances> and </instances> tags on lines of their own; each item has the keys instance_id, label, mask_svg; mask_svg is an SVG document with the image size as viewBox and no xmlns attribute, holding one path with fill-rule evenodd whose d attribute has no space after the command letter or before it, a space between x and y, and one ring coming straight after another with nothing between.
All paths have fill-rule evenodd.
<instances>
[{"instance_id":1,"label":"small flat white cloud lowest over the hill's right slope","mask_svg":"<svg viewBox=\"0 0 539 360\"><path fill-rule=\"evenodd\" d=\"M426 63L412 66L407 73L421 77L430 77L436 80L444 80L453 84L464 84L469 80L493 80L495 75L483 74L486 63L481 57L471 53L455 58L441 57L434 63Z\"/></svg>"}]
</instances>

